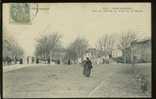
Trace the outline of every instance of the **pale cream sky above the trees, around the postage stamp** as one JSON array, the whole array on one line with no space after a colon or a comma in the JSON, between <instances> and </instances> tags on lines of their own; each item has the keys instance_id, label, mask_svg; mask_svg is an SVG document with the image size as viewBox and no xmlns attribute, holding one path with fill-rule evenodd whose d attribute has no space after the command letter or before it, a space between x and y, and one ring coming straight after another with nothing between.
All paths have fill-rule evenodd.
<instances>
[{"instance_id":1,"label":"pale cream sky above the trees, around the postage stamp","mask_svg":"<svg viewBox=\"0 0 156 99\"><path fill-rule=\"evenodd\" d=\"M33 55L37 39L54 32L62 35L64 47L76 37L95 47L105 34L113 34L116 40L128 31L136 32L139 38L151 36L150 3L40 3L30 24L12 23L9 16L9 4L5 3L3 31L17 40L25 55Z\"/></svg>"}]
</instances>

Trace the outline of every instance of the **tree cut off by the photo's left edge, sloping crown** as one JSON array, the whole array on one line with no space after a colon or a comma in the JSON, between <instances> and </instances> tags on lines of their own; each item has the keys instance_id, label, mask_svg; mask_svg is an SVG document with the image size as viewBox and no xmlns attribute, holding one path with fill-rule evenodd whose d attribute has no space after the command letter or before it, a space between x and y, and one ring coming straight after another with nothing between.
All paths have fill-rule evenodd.
<instances>
[{"instance_id":1,"label":"tree cut off by the photo's left edge, sloping crown","mask_svg":"<svg viewBox=\"0 0 156 99\"><path fill-rule=\"evenodd\" d=\"M22 58L24 55L23 48L18 44L14 35L11 34L6 26L3 27L3 39L2 39L2 46L3 46L3 61L4 63L8 62L7 58L11 61L17 57Z\"/></svg>"}]
</instances>

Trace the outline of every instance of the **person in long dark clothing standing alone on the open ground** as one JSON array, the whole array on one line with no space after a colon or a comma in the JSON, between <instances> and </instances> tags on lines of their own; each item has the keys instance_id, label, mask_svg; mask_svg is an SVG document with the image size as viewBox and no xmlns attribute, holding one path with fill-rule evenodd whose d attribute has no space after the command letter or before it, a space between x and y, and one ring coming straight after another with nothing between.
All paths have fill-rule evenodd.
<instances>
[{"instance_id":1,"label":"person in long dark clothing standing alone on the open ground","mask_svg":"<svg viewBox=\"0 0 156 99\"><path fill-rule=\"evenodd\" d=\"M83 70L83 74L86 77L90 77L91 74L91 69L92 69L92 62L89 60L89 58L87 57L86 61L84 62L84 70Z\"/></svg>"}]
</instances>

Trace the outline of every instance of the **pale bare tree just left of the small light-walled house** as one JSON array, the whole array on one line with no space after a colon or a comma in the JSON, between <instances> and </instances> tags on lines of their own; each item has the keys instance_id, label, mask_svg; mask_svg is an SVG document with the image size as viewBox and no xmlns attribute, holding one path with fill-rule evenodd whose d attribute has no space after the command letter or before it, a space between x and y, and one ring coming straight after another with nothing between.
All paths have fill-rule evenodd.
<instances>
[{"instance_id":1,"label":"pale bare tree just left of the small light-walled house","mask_svg":"<svg viewBox=\"0 0 156 99\"><path fill-rule=\"evenodd\" d=\"M113 47L114 47L114 39L112 35L103 35L98 41L96 45L97 49L102 51L104 55L111 55ZM102 54L102 53L100 53Z\"/></svg>"}]
</instances>

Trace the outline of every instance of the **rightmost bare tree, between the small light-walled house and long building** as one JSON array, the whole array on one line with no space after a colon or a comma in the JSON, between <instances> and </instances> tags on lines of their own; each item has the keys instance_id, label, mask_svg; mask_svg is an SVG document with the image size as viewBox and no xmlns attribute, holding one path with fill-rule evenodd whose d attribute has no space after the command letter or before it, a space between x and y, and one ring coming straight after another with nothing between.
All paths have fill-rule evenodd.
<instances>
[{"instance_id":1,"label":"rightmost bare tree, between the small light-walled house and long building","mask_svg":"<svg viewBox=\"0 0 156 99\"><path fill-rule=\"evenodd\" d=\"M137 39L137 35L135 32L127 32L122 33L119 41L119 49L122 50L123 57L124 57L124 63L127 63L127 61L130 59L130 47L132 42L135 42Z\"/></svg>"}]
</instances>

